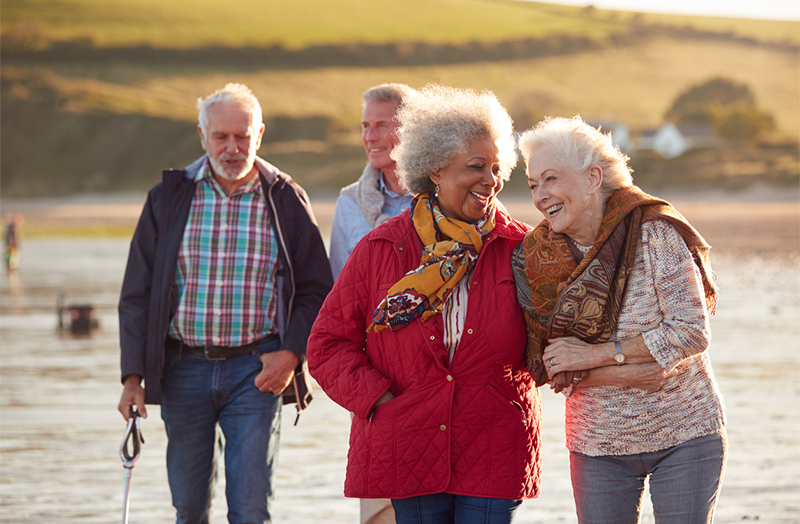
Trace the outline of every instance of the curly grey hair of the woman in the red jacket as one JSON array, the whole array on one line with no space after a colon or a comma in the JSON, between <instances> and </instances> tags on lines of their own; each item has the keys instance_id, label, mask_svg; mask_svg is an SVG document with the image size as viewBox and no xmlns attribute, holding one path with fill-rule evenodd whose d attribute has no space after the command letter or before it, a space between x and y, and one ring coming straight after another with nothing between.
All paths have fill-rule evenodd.
<instances>
[{"instance_id":1,"label":"curly grey hair of the woman in the red jacket","mask_svg":"<svg viewBox=\"0 0 800 524\"><path fill-rule=\"evenodd\" d=\"M400 143L391 157L397 162L400 184L414 195L433 191L431 173L446 167L479 138L497 144L503 180L517 165L513 122L491 91L431 84L405 98L396 118Z\"/></svg>"}]
</instances>

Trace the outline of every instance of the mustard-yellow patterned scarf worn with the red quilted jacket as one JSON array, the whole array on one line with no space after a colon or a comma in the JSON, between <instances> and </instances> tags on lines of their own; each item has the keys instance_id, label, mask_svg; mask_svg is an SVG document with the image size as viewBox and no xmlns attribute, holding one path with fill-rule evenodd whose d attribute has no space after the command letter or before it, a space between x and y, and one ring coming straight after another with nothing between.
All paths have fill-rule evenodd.
<instances>
[{"instance_id":1,"label":"mustard-yellow patterned scarf worn with the red quilted jacket","mask_svg":"<svg viewBox=\"0 0 800 524\"><path fill-rule=\"evenodd\" d=\"M411 202L411 222L425 244L418 268L389 289L375 310L367 332L398 331L417 317L423 321L442 312L461 278L472 271L483 239L494 229L495 206L477 223L445 217L430 194Z\"/></svg>"}]
</instances>

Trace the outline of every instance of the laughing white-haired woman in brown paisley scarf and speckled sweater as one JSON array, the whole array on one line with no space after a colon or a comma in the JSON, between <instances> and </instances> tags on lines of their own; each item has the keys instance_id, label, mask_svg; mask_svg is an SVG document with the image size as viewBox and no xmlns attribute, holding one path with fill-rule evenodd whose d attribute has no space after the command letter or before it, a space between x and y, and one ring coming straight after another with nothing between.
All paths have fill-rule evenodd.
<instances>
[{"instance_id":1,"label":"laughing white-haired woman in brown paisley scarf and speckled sweater","mask_svg":"<svg viewBox=\"0 0 800 524\"><path fill-rule=\"evenodd\" d=\"M545 216L514 253L528 365L568 397L578 521L638 522L649 477L657 524L712 522L727 437L709 246L580 117L540 122L520 149Z\"/></svg>"}]
</instances>

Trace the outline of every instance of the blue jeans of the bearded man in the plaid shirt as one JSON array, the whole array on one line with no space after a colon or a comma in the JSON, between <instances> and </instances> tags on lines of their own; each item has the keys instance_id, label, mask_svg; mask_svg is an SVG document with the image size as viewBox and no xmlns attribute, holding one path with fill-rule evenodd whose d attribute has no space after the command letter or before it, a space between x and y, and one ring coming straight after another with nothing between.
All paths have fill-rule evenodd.
<instances>
[{"instance_id":1,"label":"blue jeans of the bearded man in the plaid shirt","mask_svg":"<svg viewBox=\"0 0 800 524\"><path fill-rule=\"evenodd\" d=\"M161 380L161 418L167 429L167 474L177 523L206 524L216 477L219 435L225 436L228 521L269 523L277 467L282 399L253 380L259 351L209 361L167 351Z\"/></svg>"}]
</instances>

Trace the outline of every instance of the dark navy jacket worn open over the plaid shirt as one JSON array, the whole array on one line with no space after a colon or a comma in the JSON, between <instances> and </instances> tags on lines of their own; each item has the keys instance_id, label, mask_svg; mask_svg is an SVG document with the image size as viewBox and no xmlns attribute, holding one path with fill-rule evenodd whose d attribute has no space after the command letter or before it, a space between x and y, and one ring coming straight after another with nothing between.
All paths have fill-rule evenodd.
<instances>
[{"instance_id":1,"label":"dark navy jacket worn open over the plaid shirt","mask_svg":"<svg viewBox=\"0 0 800 524\"><path fill-rule=\"evenodd\" d=\"M186 221L195 193L195 177L205 156L182 170L164 171L147 195L131 241L119 302L122 379L144 377L145 402L161 402L164 342L177 304L172 282ZM256 158L269 216L278 243L275 272L280 349L300 359L284 404L298 411L311 401L306 343L322 302L333 285L328 257L308 195L292 178Z\"/></svg>"}]
</instances>

